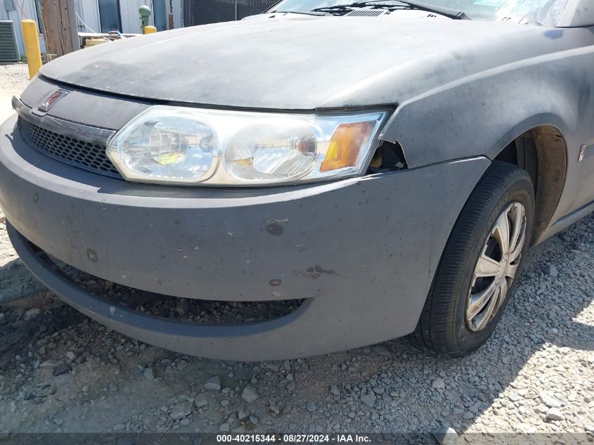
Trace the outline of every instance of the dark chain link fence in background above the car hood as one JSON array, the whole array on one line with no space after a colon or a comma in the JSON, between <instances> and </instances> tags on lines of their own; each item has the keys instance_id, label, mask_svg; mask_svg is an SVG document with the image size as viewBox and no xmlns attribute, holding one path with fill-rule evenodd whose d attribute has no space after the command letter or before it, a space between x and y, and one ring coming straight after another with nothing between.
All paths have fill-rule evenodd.
<instances>
[{"instance_id":1,"label":"dark chain link fence in background above the car hood","mask_svg":"<svg viewBox=\"0 0 594 445\"><path fill-rule=\"evenodd\" d=\"M276 3L278 0L183 0L183 25L241 20L262 13Z\"/></svg>"}]
</instances>

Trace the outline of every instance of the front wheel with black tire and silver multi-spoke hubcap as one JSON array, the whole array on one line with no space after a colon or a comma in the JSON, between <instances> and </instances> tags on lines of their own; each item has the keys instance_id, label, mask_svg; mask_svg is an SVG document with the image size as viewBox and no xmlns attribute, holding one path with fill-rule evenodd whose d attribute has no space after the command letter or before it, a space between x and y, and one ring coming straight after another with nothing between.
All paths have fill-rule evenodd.
<instances>
[{"instance_id":1,"label":"front wheel with black tire and silver multi-spoke hubcap","mask_svg":"<svg viewBox=\"0 0 594 445\"><path fill-rule=\"evenodd\" d=\"M507 237L502 235L506 223ZM515 165L493 162L463 207L441 256L414 333L423 349L458 357L486 342L522 273L533 226L530 176ZM489 303L473 315L491 292Z\"/></svg>"}]
</instances>

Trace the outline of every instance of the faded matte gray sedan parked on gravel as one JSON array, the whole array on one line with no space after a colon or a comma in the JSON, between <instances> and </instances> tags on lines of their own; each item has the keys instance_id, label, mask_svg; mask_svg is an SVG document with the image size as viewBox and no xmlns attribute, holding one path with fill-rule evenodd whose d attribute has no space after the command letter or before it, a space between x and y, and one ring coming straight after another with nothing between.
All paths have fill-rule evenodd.
<instances>
[{"instance_id":1,"label":"faded matte gray sedan parked on gravel","mask_svg":"<svg viewBox=\"0 0 594 445\"><path fill-rule=\"evenodd\" d=\"M1 127L0 205L35 275L144 342L461 356L594 209L593 94L590 0L285 0L45 65ZM187 316L212 304L233 317Z\"/></svg>"}]
</instances>

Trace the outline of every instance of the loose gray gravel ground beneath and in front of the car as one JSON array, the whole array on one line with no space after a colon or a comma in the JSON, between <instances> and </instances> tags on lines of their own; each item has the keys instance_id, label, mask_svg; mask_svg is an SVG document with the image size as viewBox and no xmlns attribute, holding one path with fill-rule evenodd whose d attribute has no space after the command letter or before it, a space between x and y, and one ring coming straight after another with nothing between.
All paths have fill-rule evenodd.
<instances>
[{"instance_id":1,"label":"loose gray gravel ground beneath and in front of the car","mask_svg":"<svg viewBox=\"0 0 594 445\"><path fill-rule=\"evenodd\" d=\"M7 243L0 223L4 254ZM543 432L560 443L593 442L593 252L594 217L531 250L491 340L455 360L426 356L408 337L311 359L199 359L131 340L51 292L38 292L0 306L0 432L451 427L468 442L476 432L491 438ZM0 273L10 276L11 264L18 260L1 264ZM127 298L124 288L108 284L108 290L96 280L87 285ZM183 315L187 307L166 302L153 310ZM578 434L560 435L568 432Z\"/></svg>"}]
</instances>

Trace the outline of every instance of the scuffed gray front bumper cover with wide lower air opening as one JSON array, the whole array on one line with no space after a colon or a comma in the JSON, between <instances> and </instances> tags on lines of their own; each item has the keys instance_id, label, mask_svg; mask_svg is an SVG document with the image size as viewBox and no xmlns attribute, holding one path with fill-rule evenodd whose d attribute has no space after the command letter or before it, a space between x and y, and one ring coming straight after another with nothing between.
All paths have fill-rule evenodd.
<instances>
[{"instance_id":1,"label":"scuffed gray front bumper cover with wide lower air opening","mask_svg":"<svg viewBox=\"0 0 594 445\"><path fill-rule=\"evenodd\" d=\"M411 333L483 157L308 186L205 189L127 183L1 129L0 205L23 261L66 302L139 340L216 359L286 359ZM114 307L44 266L176 297L302 299L273 321L172 322Z\"/></svg>"}]
</instances>

